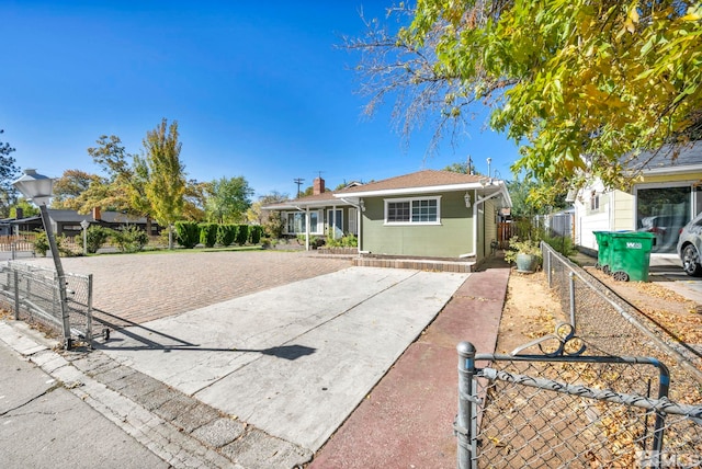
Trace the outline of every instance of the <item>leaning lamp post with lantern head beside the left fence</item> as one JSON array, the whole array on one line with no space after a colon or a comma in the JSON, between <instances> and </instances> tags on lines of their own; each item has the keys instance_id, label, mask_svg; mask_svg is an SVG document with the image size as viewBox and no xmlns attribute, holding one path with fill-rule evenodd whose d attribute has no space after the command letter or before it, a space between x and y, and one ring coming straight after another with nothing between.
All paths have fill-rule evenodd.
<instances>
[{"instance_id":1,"label":"leaning lamp post with lantern head beside the left fence","mask_svg":"<svg viewBox=\"0 0 702 469\"><path fill-rule=\"evenodd\" d=\"M42 222L46 230L46 238L48 239L52 258L54 259L54 266L56 267L56 276L58 277L58 295L60 298L61 324L64 328L64 347L68 350L70 348L71 340L68 304L66 301L66 275L64 274L61 260L58 255L58 245L56 244L56 237L54 236L54 229L52 228L52 220L48 217L48 209L46 208L46 204L52 197L54 180L38 174L36 170L24 170L24 175L14 181L12 185L20 191L24 198L36 204L42 213Z\"/></svg>"}]
</instances>

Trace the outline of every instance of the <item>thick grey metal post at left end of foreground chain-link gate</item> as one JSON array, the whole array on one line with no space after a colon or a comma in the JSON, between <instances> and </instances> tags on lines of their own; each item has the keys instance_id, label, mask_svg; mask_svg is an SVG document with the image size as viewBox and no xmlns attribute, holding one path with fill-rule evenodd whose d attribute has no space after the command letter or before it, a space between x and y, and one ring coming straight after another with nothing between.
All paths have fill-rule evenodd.
<instances>
[{"instance_id":1,"label":"thick grey metal post at left end of foreground chain-link gate","mask_svg":"<svg viewBox=\"0 0 702 469\"><path fill-rule=\"evenodd\" d=\"M458 414L454 423L454 432L458 442L458 469L472 467L473 451L471 425L473 421L473 376L475 375L475 347L469 342L461 342L458 352Z\"/></svg>"}]
</instances>

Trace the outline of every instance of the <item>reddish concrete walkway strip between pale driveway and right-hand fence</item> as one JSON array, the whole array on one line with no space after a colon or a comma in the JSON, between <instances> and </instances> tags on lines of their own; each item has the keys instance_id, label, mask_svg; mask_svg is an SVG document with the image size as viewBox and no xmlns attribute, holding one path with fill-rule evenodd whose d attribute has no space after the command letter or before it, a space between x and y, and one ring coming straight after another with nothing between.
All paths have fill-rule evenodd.
<instances>
[{"instance_id":1,"label":"reddish concrete walkway strip between pale driveway and right-hand fence","mask_svg":"<svg viewBox=\"0 0 702 469\"><path fill-rule=\"evenodd\" d=\"M471 274L310 468L455 468L456 345L495 352L508 278L506 265Z\"/></svg>"}]
</instances>

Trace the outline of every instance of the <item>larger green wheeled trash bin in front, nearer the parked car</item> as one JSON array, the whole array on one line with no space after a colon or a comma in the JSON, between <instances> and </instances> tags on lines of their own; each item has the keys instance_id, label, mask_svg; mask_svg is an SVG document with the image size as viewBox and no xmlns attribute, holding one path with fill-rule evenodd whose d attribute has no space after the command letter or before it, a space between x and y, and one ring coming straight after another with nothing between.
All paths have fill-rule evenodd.
<instances>
[{"instance_id":1,"label":"larger green wheeled trash bin in front, nearer the parked car","mask_svg":"<svg viewBox=\"0 0 702 469\"><path fill-rule=\"evenodd\" d=\"M610 232L610 272L615 281L647 282L654 233L645 231Z\"/></svg>"}]
</instances>

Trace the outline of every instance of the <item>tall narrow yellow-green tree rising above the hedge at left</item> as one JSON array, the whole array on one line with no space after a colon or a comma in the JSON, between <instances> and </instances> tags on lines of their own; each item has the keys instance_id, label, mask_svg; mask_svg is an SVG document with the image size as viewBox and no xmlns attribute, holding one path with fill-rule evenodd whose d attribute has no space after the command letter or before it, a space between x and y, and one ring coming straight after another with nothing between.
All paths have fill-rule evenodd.
<instances>
[{"instance_id":1,"label":"tall narrow yellow-green tree rising above the hedge at left","mask_svg":"<svg viewBox=\"0 0 702 469\"><path fill-rule=\"evenodd\" d=\"M144 183L144 192L154 219L169 229L169 248L172 248L171 226L183 209L185 194L184 167L180 161L181 144L178 141L178 123L168 126L166 118L143 140L145 157L135 157L135 174ZM147 205L147 204L145 204Z\"/></svg>"}]
</instances>

